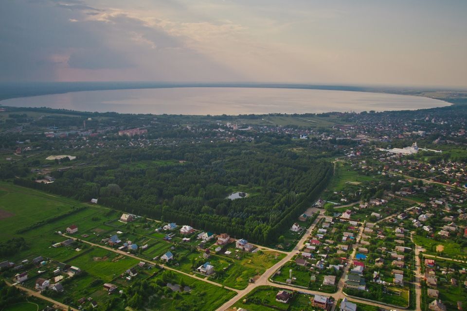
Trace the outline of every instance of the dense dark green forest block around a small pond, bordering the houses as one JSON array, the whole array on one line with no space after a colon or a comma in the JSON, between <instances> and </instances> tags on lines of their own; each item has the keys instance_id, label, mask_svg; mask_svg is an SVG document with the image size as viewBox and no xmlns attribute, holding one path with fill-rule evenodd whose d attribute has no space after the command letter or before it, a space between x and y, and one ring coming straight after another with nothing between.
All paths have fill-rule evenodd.
<instances>
[{"instance_id":1,"label":"dense dark green forest block around a small pond, bordering the houses","mask_svg":"<svg viewBox=\"0 0 467 311\"><path fill-rule=\"evenodd\" d=\"M101 150L93 165L56 170L52 184L15 183L99 203L165 222L275 241L316 199L332 176L323 150L296 153L287 138ZM234 191L249 196L230 200Z\"/></svg>"}]
</instances>

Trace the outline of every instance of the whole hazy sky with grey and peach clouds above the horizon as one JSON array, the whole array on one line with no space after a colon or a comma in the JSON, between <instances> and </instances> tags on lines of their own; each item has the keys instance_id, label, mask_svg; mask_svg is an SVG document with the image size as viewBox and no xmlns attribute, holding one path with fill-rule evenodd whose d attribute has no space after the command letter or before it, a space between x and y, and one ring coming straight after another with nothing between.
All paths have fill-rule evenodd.
<instances>
[{"instance_id":1,"label":"whole hazy sky with grey and peach clouds above the horizon","mask_svg":"<svg viewBox=\"0 0 467 311\"><path fill-rule=\"evenodd\" d=\"M0 81L467 86L465 0L0 0Z\"/></svg>"}]
</instances>

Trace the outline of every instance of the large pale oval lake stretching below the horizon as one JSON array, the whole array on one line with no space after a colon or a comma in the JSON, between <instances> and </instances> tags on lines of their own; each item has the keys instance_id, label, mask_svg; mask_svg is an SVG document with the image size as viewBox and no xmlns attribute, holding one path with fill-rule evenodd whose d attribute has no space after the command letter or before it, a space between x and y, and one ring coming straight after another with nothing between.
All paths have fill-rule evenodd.
<instances>
[{"instance_id":1,"label":"large pale oval lake stretching below the horizon","mask_svg":"<svg viewBox=\"0 0 467 311\"><path fill-rule=\"evenodd\" d=\"M288 88L178 87L83 91L1 101L5 106L78 111L238 115L414 110L449 105L420 96Z\"/></svg>"}]
</instances>

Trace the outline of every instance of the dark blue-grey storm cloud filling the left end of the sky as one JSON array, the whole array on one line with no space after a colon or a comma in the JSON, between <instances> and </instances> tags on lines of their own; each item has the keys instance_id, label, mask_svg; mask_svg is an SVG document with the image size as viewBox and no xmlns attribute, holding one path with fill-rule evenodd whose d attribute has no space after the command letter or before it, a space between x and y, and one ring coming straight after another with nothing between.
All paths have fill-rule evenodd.
<instances>
[{"instance_id":1,"label":"dark blue-grey storm cloud filling the left end of the sky","mask_svg":"<svg viewBox=\"0 0 467 311\"><path fill-rule=\"evenodd\" d=\"M125 55L108 47L95 23L72 22L97 9L66 6L73 9L63 10L51 1L1 1L0 80L53 80L67 54L73 68L131 66Z\"/></svg>"}]
</instances>

